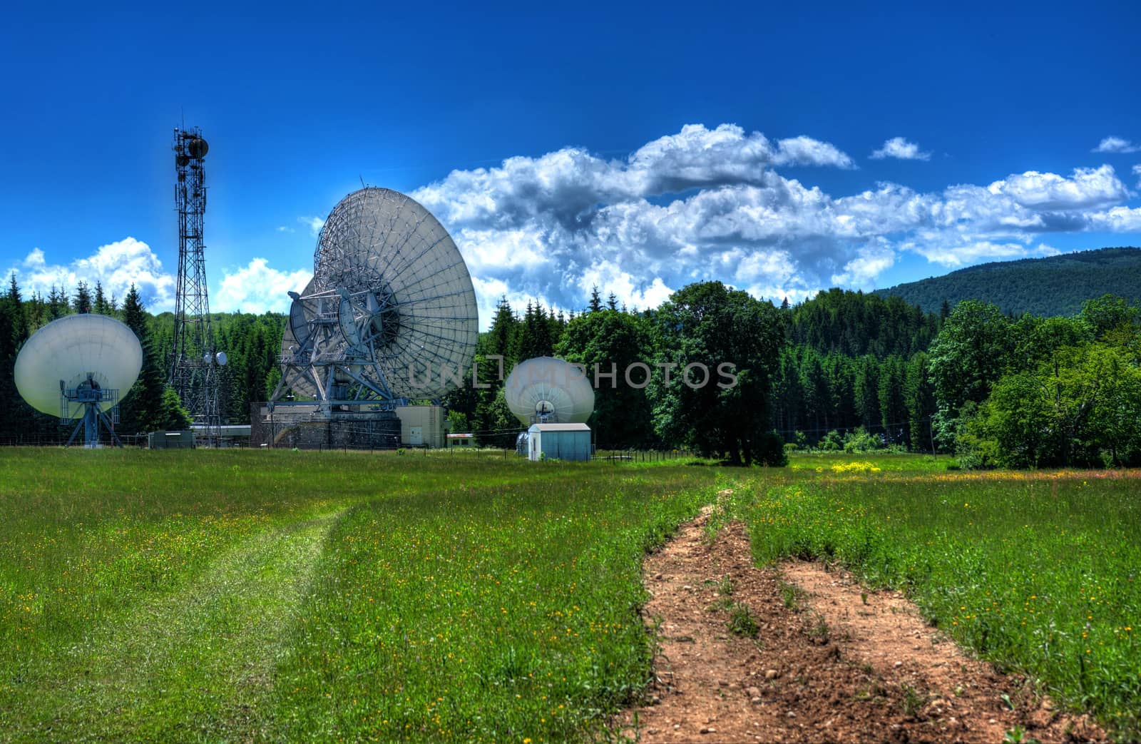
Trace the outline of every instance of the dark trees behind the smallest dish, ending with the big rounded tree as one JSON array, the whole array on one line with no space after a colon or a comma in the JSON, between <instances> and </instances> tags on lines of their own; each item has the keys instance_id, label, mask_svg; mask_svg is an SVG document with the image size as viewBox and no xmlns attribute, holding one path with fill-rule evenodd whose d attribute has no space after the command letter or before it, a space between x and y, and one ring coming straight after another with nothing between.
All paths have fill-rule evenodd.
<instances>
[{"instance_id":1,"label":"dark trees behind the smallest dish, ending with the big rounded tree","mask_svg":"<svg viewBox=\"0 0 1141 744\"><path fill-rule=\"evenodd\" d=\"M785 453L771 430L770 390L785 338L777 308L720 282L690 284L641 313L620 308L613 294L604 302L597 289L583 312L566 316L537 302L520 315L504 298L477 347L487 387L464 386L445 404L453 429L513 446L520 422L507 406L497 359L510 370L558 356L581 364L594 386L588 423L600 450L686 447L778 464ZM718 374L722 363L731 364L731 385Z\"/></svg>"}]
</instances>

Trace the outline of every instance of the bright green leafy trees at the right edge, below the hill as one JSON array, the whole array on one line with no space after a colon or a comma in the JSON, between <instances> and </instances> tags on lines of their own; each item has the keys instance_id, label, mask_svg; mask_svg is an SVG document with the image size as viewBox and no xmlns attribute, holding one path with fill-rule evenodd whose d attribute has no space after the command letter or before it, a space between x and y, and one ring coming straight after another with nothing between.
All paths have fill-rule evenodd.
<instances>
[{"instance_id":1,"label":"bright green leafy trees at the right edge, below the hill","mask_svg":"<svg viewBox=\"0 0 1141 744\"><path fill-rule=\"evenodd\" d=\"M968 467L1141 464L1141 314L1124 298L1051 318L960 302L930 364L936 439Z\"/></svg>"}]
</instances>

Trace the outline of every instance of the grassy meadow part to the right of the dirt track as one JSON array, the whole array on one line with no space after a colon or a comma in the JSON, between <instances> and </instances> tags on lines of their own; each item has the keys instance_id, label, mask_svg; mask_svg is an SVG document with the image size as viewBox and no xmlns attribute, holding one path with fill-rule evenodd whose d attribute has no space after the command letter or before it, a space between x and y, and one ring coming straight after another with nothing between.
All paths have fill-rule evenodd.
<instances>
[{"instance_id":1,"label":"grassy meadow part to the right of the dirt track","mask_svg":"<svg viewBox=\"0 0 1141 744\"><path fill-rule=\"evenodd\" d=\"M731 511L759 563L822 558L904 589L979 656L1141 737L1141 472L892 464L755 482Z\"/></svg>"}]
</instances>

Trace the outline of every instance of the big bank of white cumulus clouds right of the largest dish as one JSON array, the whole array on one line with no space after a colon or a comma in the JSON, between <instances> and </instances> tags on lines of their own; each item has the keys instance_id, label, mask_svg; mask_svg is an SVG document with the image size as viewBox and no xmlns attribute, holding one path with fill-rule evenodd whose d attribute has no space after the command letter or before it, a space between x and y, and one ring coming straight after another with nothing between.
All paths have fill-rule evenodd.
<instances>
[{"instance_id":1,"label":"big bank of white cumulus clouds right of the largest dish","mask_svg":"<svg viewBox=\"0 0 1141 744\"><path fill-rule=\"evenodd\" d=\"M926 155L897 138L892 156ZM630 307L710 278L802 299L835 283L872 289L901 252L958 267L1045 256L1051 233L1136 232L1111 165L1012 173L919 192L880 183L831 194L784 170L852 167L810 137L770 139L690 124L629 157L581 147L453 171L411 195L448 228L480 288L581 308L592 286ZM482 299L482 302L484 300ZM483 306L482 306L483 309ZM486 321L486 315L482 315Z\"/></svg>"}]
</instances>

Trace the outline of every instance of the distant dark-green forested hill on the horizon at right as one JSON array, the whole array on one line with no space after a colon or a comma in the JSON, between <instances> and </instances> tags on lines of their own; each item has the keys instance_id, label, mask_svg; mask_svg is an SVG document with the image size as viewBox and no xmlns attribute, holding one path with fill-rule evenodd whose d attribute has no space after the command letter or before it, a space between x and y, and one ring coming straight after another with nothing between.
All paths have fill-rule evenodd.
<instances>
[{"instance_id":1,"label":"distant dark-green forested hill on the horizon at right","mask_svg":"<svg viewBox=\"0 0 1141 744\"><path fill-rule=\"evenodd\" d=\"M1107 293L1141 304L1141 248L981 264L875 293L901 297L925 310L938 310L945 300L950 307L960 300L982 300L1008 314L1069 317L1085 300Z\"/></svg>"}]
</instances>

